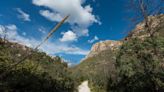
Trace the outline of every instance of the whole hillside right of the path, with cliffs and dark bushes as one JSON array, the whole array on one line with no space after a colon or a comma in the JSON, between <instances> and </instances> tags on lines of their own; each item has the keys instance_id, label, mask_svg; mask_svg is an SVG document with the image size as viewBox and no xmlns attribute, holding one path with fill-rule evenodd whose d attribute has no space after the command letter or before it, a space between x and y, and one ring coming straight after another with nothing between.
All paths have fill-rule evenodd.
<instances>
[{"instance_id":1,"label":"whole hillside right of the path, with cliffs and dark bushes","mask_svg":"<svg viewBox=\"0 0 164 92\"><path fill-rule=\"evenodd\" d=\"M164 91L164 15L149 16L122 41L93 45L72 71L79 81L89 80L92 92ZM154 88L153 88L154 87Z\"/></svg>"}]
</instances>

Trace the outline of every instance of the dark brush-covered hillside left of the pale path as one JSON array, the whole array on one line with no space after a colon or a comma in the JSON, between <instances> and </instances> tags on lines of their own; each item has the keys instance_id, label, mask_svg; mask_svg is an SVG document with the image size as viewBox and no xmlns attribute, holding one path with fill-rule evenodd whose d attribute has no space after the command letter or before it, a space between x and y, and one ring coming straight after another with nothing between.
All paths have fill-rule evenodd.
<instances>
[{"instance_id":1,"label":"dark brush-covered hillside left of the pale path","mask_svg":"<svg viewBox=\"0 0 164 92\"><path fill-rule=\"evenodd\" d=\"M67 64L60 57L50 57L44 52L0 39L0 92L73 90L74 82L68 74Z\"/></svg>"}]
</instances>

